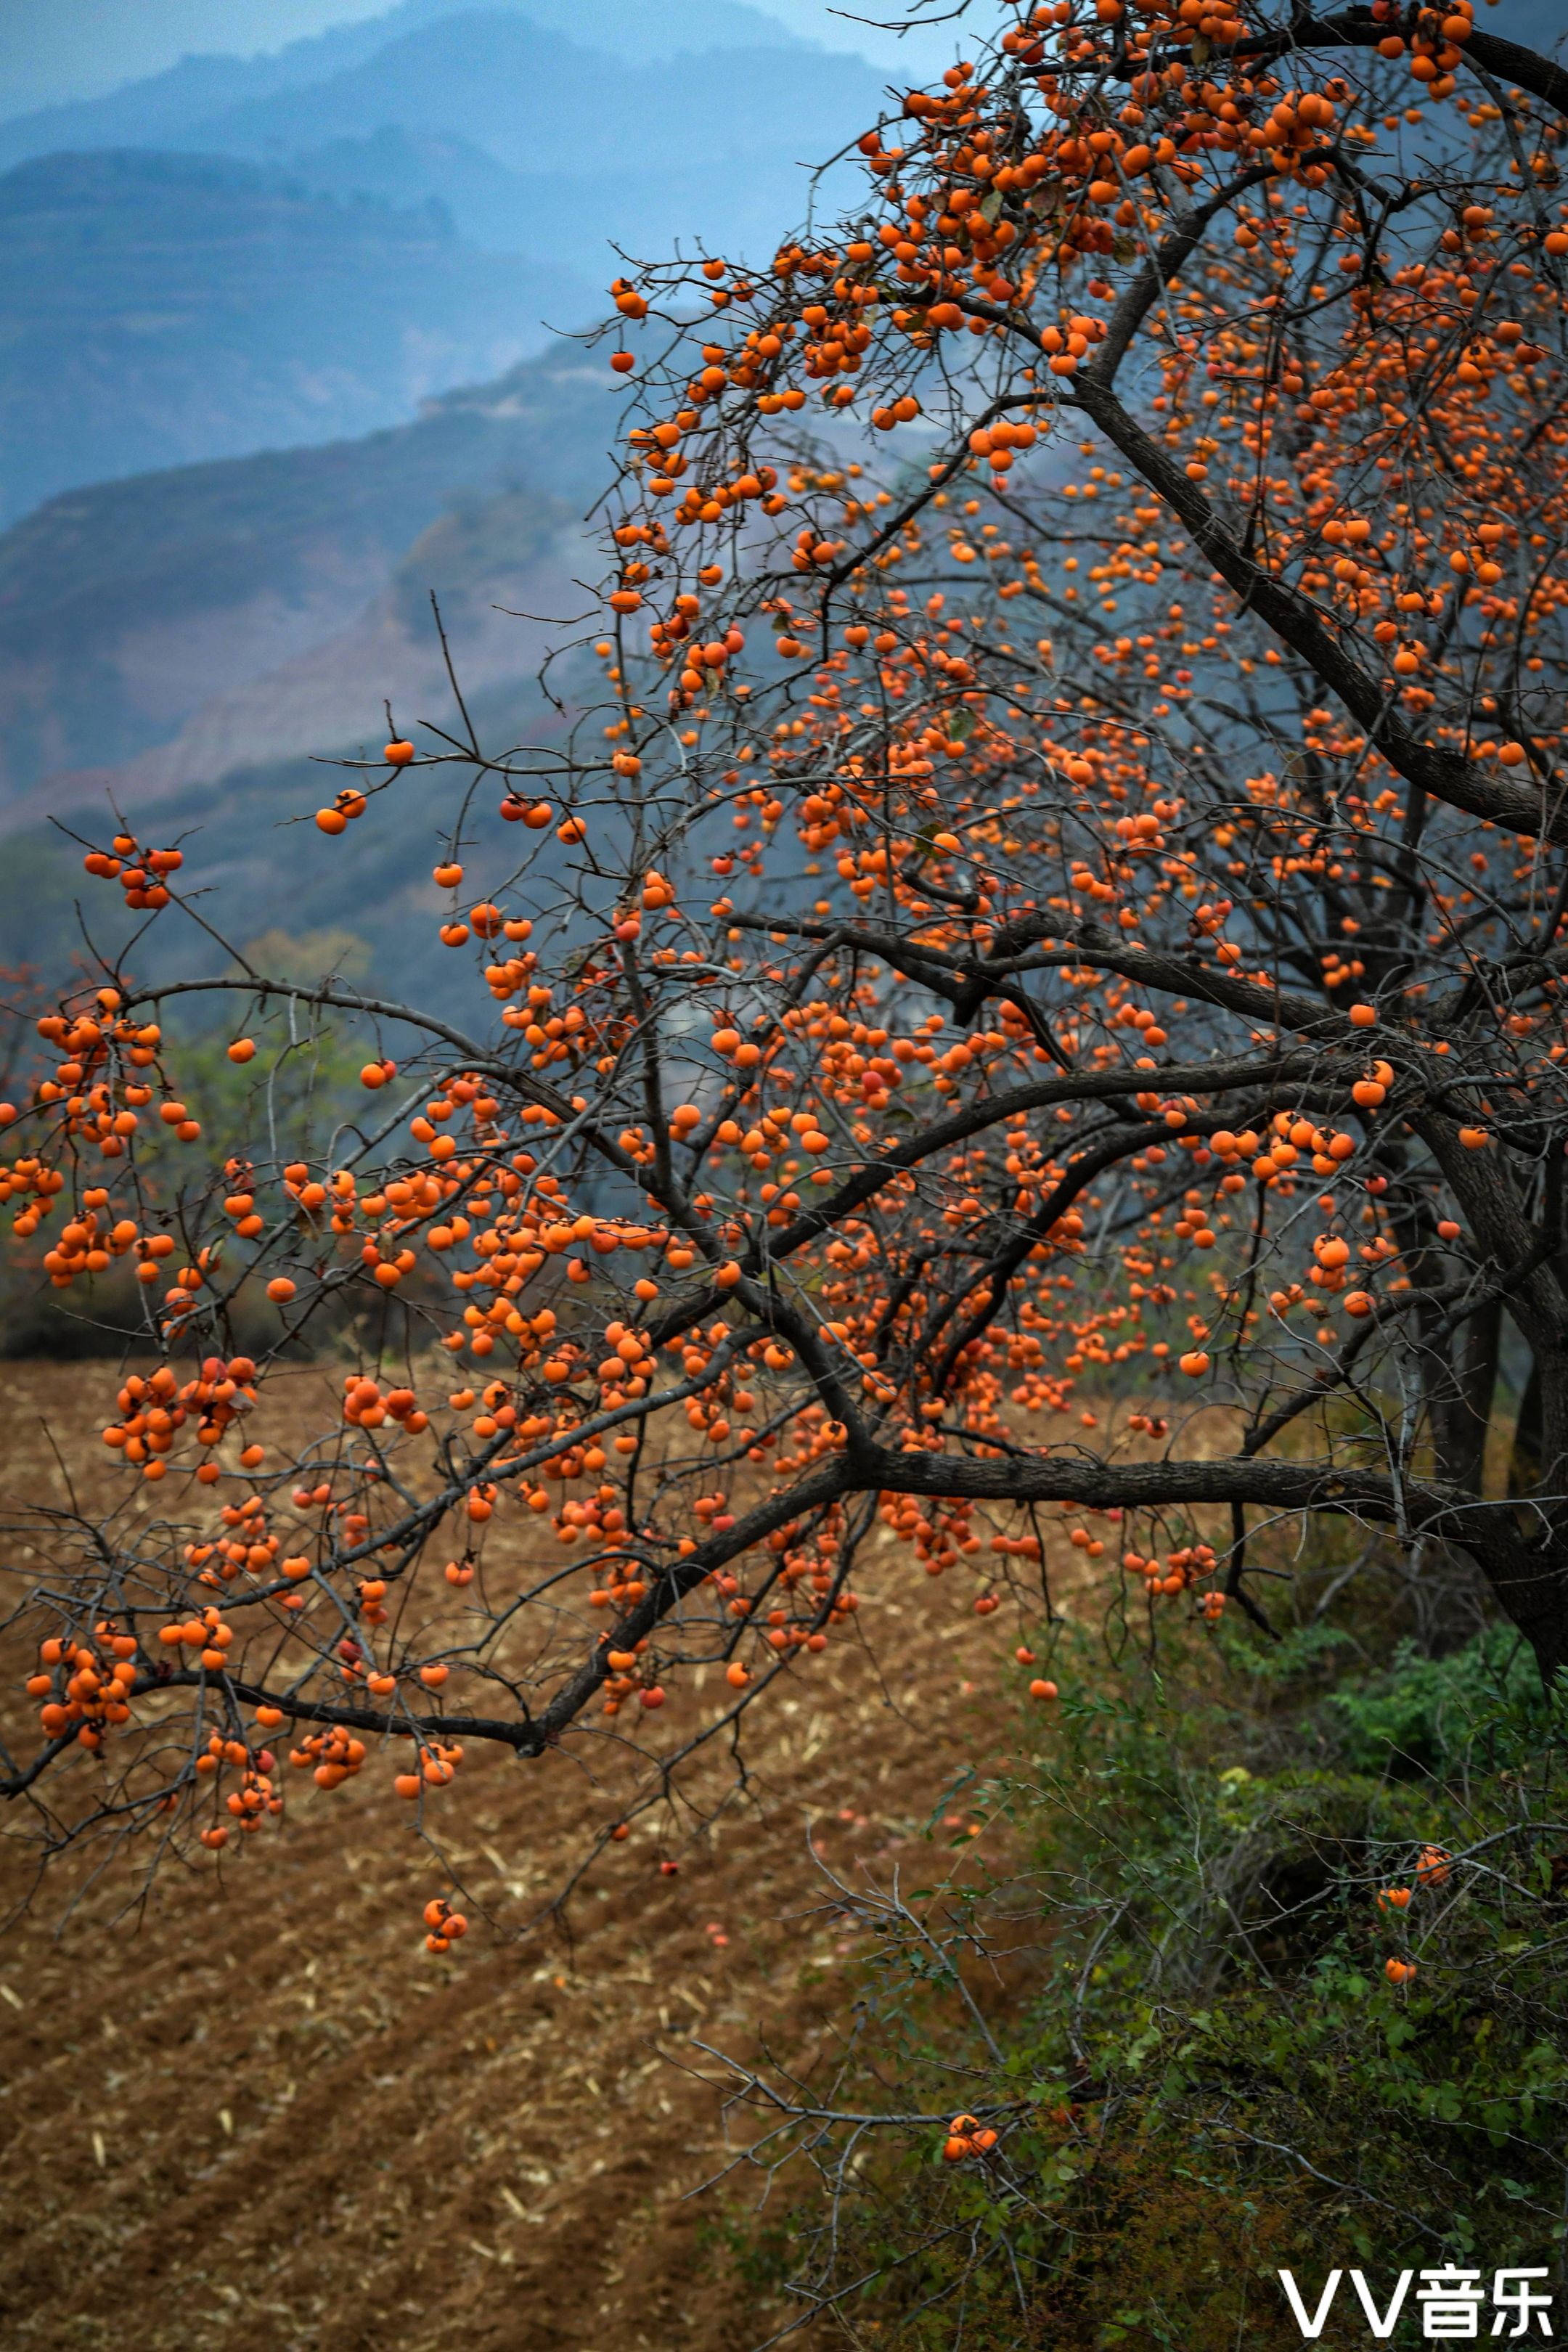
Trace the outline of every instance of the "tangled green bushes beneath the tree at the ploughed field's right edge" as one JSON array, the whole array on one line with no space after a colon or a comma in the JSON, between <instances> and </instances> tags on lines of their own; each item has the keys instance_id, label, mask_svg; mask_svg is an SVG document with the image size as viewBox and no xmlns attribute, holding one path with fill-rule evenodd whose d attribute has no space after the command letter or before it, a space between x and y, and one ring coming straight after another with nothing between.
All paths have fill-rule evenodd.
<instances>
[{"instance_id":1,"label":"tangled green bushes beneath the tree at the ploughed field's right edge","mask_svg":"<svg viewBox=\"0 0 1568 2352\"><path fill-rule=\"evenodd\" d=\"M1561 1703L1502 1630L1326 1700L1314 1646L1284 1691L1234 1642L1098 1663L1039 1755L964 1790L1006 1865L835 1889L856 2030L757 2150L809 2152L827 2197L797 2213L806 2305L907 2347L1220 2352L1300 2343L1281 2265L1382 2291L1554 2258Z\"/></svg>"}]
</instances>

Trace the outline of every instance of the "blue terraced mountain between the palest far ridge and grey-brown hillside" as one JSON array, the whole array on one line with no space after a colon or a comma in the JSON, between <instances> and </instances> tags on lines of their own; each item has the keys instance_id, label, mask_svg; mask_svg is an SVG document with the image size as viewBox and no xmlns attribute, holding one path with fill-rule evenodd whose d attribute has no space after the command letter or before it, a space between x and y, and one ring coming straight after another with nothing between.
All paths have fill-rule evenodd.
<instances>
[{"instance_id":1,"label":"blue terraced mountain between the palest far ridge and grey-brown hillside","mask_svg":"<svg viewBox=\"0 0 1568 2352\"><path fill-rule=\"evenodd\" d=\"M367 433L592 308L440 212L228 158L21 165L0 179L0 520L73 482Z\"/></svg>"}]
</instances>

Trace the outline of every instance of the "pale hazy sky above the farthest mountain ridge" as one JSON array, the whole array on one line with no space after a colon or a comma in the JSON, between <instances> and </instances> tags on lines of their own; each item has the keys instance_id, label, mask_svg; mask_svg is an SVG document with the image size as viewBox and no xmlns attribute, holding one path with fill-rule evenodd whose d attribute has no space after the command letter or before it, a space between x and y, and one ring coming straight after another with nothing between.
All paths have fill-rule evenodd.
<instances>
[{"instance_id":1,"label":"pale hazy sky above the farthest mountain ridge","mask_svg":"<svg viewBox=\"0 0 1568 2352\"><path fill-rule=\"evenodd\" d=\"M625 0L632 9L670 0ZM827 0L755 0L832 49L865 49L891 59L896 49L835 14ZM898 5L846 0L856 14L896 19ZM115 82L172 66L188 49L249 56L282 49L329 24L378 16L388 0L0 0L0 118L87 99Z\"/></svg>"}]
</instances>

